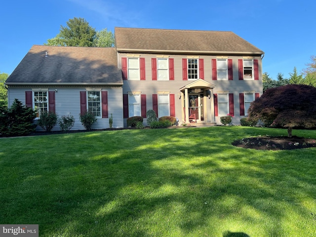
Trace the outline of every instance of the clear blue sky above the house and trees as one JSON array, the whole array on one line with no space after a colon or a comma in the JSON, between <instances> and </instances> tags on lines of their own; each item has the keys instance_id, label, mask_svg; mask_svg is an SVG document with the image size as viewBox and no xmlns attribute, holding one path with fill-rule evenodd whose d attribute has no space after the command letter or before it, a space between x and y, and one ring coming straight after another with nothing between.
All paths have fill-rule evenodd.
<instances>
[{"instance_id":1,"label":"clear blue sky above the house and trees","mask_svg":"<svg viewBox=\"0 0 316 237\"><path fill-rule=\"evenodd\" d=\"M10 0L0 9L0 72L7 74L74 17L113 33L116 26L232 31L265 52L263 72L273 79L301 72L316 55L315 0Z\"/></svg>"}]
</instances>

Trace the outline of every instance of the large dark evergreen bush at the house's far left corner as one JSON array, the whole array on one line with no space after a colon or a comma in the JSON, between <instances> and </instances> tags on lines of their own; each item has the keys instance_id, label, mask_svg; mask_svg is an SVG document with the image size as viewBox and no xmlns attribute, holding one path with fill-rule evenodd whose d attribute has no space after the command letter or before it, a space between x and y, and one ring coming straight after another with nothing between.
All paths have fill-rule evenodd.
<instances>
[{"instance_id":1,"label":"large dark evergreen bush at the house's far left corner","mask_svg":"<svg viewBox=\"0 0 316 237\"><path fill-rule=\"evenodd\" d=\"M0 136L25 135L35 131L35 111L22 105L18 99L10 108L0 103Z\"/></svg>"}]
</instances>

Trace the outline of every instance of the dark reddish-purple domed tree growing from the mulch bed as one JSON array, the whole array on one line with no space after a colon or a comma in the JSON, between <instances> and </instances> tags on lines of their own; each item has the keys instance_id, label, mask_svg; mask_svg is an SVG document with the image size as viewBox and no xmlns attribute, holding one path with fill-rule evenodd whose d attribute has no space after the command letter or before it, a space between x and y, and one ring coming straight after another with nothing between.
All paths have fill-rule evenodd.
<instances>
[{"instance_id":1,"label":"dark reddish-purple domed tree growing from the mulch bed","mask_svg":"<svg viewBox=\"0 0 316 237\"><path fill-rule=\"evenodd\" d=\"M251 103L248 118L287 127L288 137L292 137L293 127L316 127L316 87L291 84L270 88Z\"/></svg>"}]
</instances>

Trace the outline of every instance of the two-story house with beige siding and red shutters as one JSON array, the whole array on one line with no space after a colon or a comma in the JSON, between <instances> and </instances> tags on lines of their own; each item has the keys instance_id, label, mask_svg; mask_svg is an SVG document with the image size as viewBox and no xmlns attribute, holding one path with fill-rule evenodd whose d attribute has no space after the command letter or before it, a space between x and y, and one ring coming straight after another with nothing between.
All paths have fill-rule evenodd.
<instances>
[{"instance_id":1,"label":"two-story house with beige siding and red shutters","mask_svg":"<svg viewBox=\"0 0 316 237\"><path fill-rule=\"evenodd\" d=\"M115 28L115 47L34 45L6 80L8 104L95 114L93 129L126 127L153 109L181 123L233 124L262 94L264 52L232 32ZM40 130L40 127L37 128ZM56 125L53 130L59 130Z\"/></svg>"}]
</instances>

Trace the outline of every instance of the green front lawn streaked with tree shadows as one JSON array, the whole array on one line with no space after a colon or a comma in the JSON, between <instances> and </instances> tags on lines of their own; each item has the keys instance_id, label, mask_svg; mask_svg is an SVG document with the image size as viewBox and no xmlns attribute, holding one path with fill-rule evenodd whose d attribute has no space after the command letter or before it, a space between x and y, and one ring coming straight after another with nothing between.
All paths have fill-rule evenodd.
<instances>
[{"instance_id":1,"label":"green front lawn streaked with tree shadows","mask_svg":"<svg viewBox=\"0 0 316 237\"><path fill-rule=\"evenodd\" d=\"M0 139L0 224L39 224L45 237L315 236L316 149L231 145L257 135L287 131L232 126ZM316 138L316 131L293 135Z\"/></svg>"}]
</instances>

